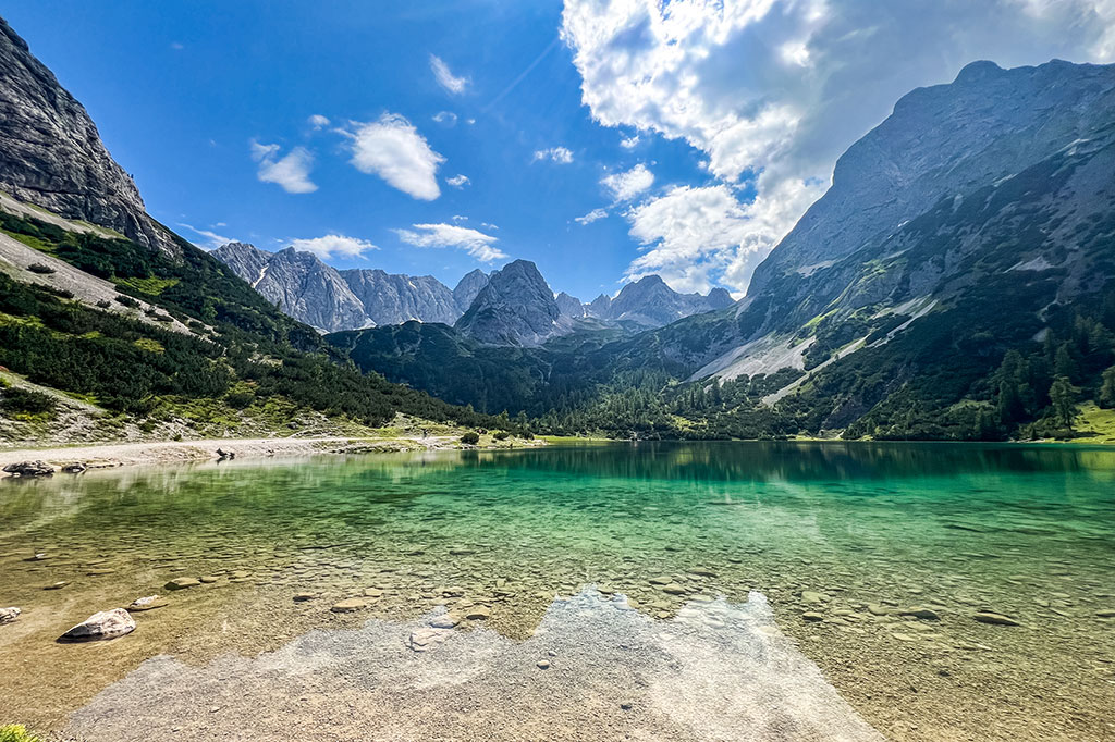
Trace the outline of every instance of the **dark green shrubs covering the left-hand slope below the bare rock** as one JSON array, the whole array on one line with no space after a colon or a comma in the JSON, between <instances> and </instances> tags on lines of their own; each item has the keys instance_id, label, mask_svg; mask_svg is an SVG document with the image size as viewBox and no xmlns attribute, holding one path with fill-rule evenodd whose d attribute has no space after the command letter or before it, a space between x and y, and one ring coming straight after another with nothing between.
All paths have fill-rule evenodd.
<instances>
[{"instance_id":1,"label":"dark green shrubs covering the left-hand slope below the bare rock","mask_svg":"<svg viewBox=\"0 0 1115 742\"><path fill-rule=\"evenodd\" d=\"M360 374L312 329L280 313L184 241L181 258L174 260L125 240L67 232L33 218L0 214L0 225L113 281L125 307L139 306L139 299L157 307L148 316L164 323L174 318L192 330L163 329L138 313L90 307L0 274L0 365L33 383L138 418L201 406L234 421L236 410L284 400L280 407L291 414L310 410L369 427L398 412L469 427L494 423L379 374ZM31 402L25 397L19 403Z\"/></svg>"}]
</instances>

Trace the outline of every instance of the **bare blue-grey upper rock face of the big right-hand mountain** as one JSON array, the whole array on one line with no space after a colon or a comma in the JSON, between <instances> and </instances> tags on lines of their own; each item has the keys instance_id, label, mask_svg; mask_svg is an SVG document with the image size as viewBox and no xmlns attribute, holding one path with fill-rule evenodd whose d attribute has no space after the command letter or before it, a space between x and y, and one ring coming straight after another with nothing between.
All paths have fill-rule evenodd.
<instances>
[{"instance_id":1,"label":"bare blue-grey upper rock face of the big right-hand mountain","mask_svg":"<svg viewBox=\"0 0 1115 742\"><path fill-rule=\"evenodd\" d=\"M1060 60L1010 70L972 62L951 85L911 91L841 156L832 187L755 271L748 294L777 275L845 257L946 196L1087 138L1113 107L1111 66Z\"/></svg>"}]
</instances>

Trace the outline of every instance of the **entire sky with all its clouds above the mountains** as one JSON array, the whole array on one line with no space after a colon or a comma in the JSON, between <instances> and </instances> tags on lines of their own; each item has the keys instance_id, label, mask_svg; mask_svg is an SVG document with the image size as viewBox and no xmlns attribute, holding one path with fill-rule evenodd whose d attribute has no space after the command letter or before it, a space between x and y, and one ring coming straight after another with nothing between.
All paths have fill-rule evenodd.
<instances>
[{"instance_id":1,"label":"entire sky with all its clouds above the mountains","mask_svg":"<svg viewBox=\"0 0 1115 742\"><path fill-rule=\"evenodd\" d=\"M584 300L648 273L738 294L905 91L978 58L1115 58L1111 0L3 12L152 215L197 244L294 244L450 285L522 257Z\"/></svg>"}]
</instances>

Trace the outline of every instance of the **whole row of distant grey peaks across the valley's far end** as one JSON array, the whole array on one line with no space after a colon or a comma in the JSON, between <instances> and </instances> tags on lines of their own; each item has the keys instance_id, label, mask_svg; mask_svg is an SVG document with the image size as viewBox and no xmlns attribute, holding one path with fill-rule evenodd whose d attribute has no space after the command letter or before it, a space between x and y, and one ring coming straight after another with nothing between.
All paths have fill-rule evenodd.
<instances>
[{"instance_id":1,"label":"whole row of distant grey peaks across the valley's far end","mask_svg":"<svg viewBox=\"0 0 1115 742\"><path fill-rule=\"evenodd\" d=\"M554 296L529 261L508 263L491 276L481 270L472 271L450 290L429 275L368 269L339 271L312 253L292 247L270 253L231 242L212 255L283 312L322 332L410 320L443 324L460 320L463 332L483 343L537 345L571 332L572 320L594 318L629 328L660 328L733 303L724 289L714 289L707 296L681 294L651 275L627 284L615 299L601 294L584 304L564 292ZM477 300L481 304L474 306Z\"/></svg>"}]
</instances>

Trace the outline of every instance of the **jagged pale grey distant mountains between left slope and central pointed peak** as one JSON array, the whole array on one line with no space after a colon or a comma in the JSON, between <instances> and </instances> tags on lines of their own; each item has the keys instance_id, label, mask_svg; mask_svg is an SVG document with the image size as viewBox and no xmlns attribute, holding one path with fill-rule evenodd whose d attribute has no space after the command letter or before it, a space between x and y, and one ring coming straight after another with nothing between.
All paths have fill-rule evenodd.
<instances>
[{"instance_id":1,"label":"jagged pale grey distant mountains between left slope and central pointed peak","mask_svg":"<svg viewBox=\"0 0 1115 742\"><path fill-rule=\"evenodd\" d=\"M355 330L409 320L453 324L465 309L434 276L390 274L380 270L338 271L312 253L292 247L269 253L233 242L212 253L292 318L322 332ZM487 276L481 271L474 274ZM462 292L462 295L467 293Z\"/></svg>"}]
</instances>

